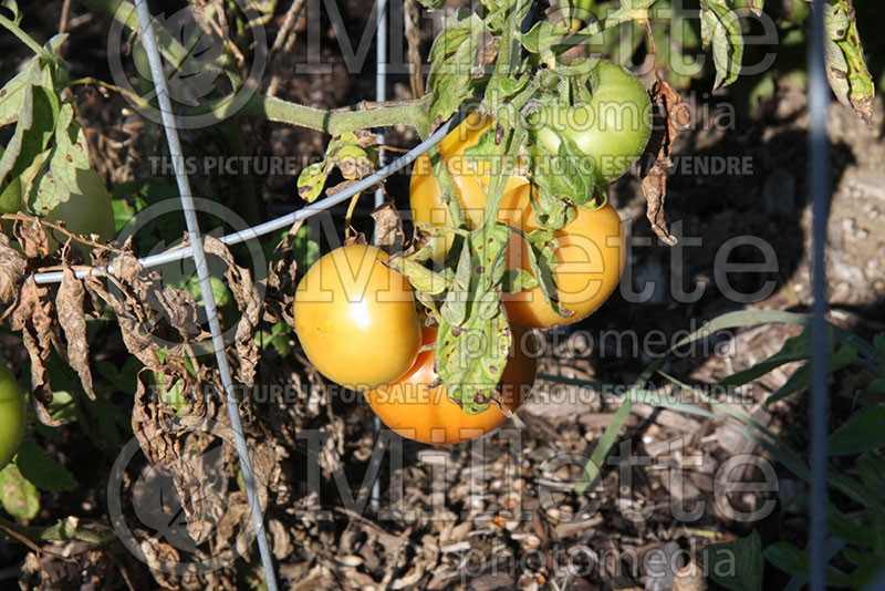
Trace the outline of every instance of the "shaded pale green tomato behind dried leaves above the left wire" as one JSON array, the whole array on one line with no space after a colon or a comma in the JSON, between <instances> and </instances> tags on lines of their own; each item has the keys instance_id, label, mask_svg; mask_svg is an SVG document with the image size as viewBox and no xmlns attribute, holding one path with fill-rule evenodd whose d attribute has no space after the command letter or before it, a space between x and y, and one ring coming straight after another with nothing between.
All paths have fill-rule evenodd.
<instances>
[{"instance_id":1,"label":"shaded pale green tomato behind dried leaves above the left wire","mask_svg":"<svg viewBox=\"0 0 885 591\"><path fill-rule=\"evenodd\" d=\"M106 242L115 236L114 208L111 195L104 186L102 177L92 168L77 168L76 191L71 193L66 201L56 205L43 219L46 221L64 221L71 234L88 236L98 235L100 242ZM92 248L79 245L88 258ZM55 250L58 242L50 238L50 248Z\"/></svg>"}]
</instances>

